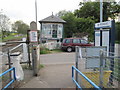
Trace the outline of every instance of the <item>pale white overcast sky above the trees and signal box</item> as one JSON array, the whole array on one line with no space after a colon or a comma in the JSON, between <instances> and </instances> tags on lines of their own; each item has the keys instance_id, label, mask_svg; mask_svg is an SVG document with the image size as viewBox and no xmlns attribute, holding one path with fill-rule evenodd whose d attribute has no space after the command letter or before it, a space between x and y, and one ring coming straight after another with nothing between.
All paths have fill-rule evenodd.
<instances>
[{"instance_id":1,"label":"pale white overcast sky above the trees and signal box","mask_svg":"<svg viewBox=\"0 0 120 90\"><path fill-rule=\"evenodd\" d=\"M52 12L55 15L61 10L74 11L79 8L80 1L83 0L37 0L38 21L50 16ZM35 21L35 0L0 0L1 9L11 22L23 20L29 24Z\"/></svg>"}]
</instances>

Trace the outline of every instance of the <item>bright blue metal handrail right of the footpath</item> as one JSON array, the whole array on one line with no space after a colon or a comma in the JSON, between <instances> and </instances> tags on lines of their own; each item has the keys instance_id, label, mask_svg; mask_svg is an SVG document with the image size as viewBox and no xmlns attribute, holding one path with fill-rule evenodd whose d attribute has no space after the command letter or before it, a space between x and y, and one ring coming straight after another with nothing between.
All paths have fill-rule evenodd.
<instances>
[{"instance_id":1,"label":"bright blue metal handrail right of the footpath","mask_svg":"<svg viewBox=\"0 0 120 90\"><path fill-rule=\"evenodd\" d=\"M78 84L78 82L74 79L74 70L76 70L84 79L86 79L94 88L101 90L100 87L98 87L95 83L93 83L89 78L87 78L80 70L78 70L75 66L72 66L72 80L75 82L77 87L82 90L81 86Z\"/></svg>"}]
</instances>

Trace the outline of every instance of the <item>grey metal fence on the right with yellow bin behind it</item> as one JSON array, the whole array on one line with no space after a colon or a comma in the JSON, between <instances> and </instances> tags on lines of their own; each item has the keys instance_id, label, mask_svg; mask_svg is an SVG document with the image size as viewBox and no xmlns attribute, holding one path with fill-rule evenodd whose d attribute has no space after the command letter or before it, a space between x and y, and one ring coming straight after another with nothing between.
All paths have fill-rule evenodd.
<instances>
[{"instance_id":1,"label":"grey metal fence on the right with yellow bin behind it","mask_svg":"<svg viewBox=\"0 0 120 90\"><path fill-rule=\"evenodd\" d=\"M118 88L119 64L120 57L108 52L106 47L76 47L76 68L100 88ZM81 88L93 88L93 85L77 72L76 81Z\"/></svg>"}]
</instances>

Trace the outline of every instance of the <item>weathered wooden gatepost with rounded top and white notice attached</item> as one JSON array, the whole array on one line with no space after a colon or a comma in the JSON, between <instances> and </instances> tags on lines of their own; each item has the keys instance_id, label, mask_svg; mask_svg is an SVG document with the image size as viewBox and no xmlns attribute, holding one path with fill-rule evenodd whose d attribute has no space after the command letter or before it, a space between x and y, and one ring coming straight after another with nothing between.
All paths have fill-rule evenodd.
<instances>
[{"instance_id":1,"label":"weathered wooden gatepost with rounded top and white notice attached","mask_svg":"<svg viewBox=\"0 0 120 90\"><path fill-rule=\"evenodd\" d=\"M29 42L32 45L32 67L33 67L33 75L37 76L40 65L40 46L39 46L39 38L38 38L38 30L36 22L30 23L29 30Z\"/></svg>"}]
</instances>

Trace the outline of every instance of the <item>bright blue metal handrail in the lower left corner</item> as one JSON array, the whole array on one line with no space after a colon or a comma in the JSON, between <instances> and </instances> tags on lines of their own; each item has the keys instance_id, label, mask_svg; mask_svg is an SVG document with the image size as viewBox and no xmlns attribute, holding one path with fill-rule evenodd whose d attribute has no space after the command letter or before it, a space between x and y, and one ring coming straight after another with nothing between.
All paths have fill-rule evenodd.
<instances>
[{"instance_id":1,"label":"bright blue metal handrail in the lower left corner","mask_svg":"<svg viewBox=\"0 0 120 90\"><path fill-rule=\"evenodd\" d=\"M5 87L3 87L2 90L5 90L6 88L8 88L16 80L15 68L12 67L12 68L8 69L7 71L3 72L2 74L0 74L0 77L2 77L3 75L7 74L8 72L10 72L12 70L13 70L13 79Z\"/></svg>"}]
</instances>

